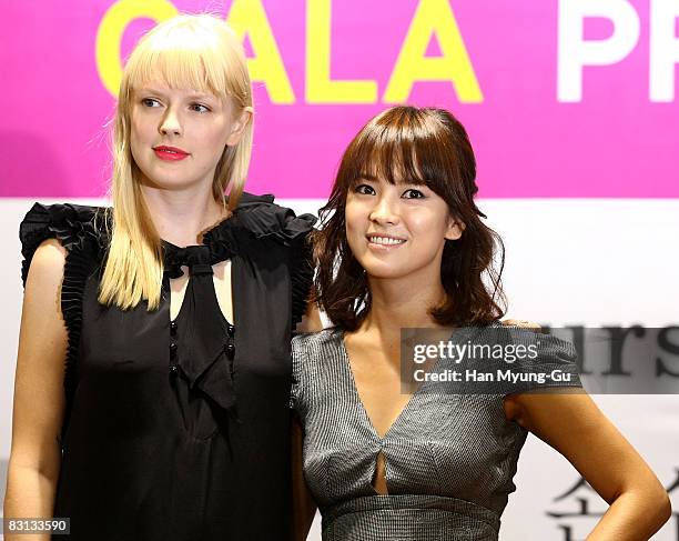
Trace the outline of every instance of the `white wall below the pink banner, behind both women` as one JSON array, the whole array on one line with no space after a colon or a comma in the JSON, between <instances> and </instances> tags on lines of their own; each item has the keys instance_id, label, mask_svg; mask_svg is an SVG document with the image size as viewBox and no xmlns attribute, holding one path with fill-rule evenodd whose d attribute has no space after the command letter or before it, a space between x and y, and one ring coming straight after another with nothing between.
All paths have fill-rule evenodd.
<instances>
[{"instance_id":1,"label":"white wall below the pink banner, behind both women","mask_svg":"<svg viewBox=\"0 0 679 541\"><path fill-rule=\"evenodd\" d=\"M0 485L10 449L11 403L21 313L18 227L32 200L0 199ZM42 202L50 202L42 200ZM91 203L92 201L77 201ZM298 212L315 212L318 200L282 200ZM508 317L553 325L679 323L679 200L484 200L488 224L504 238ZM666 485L679 481L679 395L596 395L595 400L648 460ZM500 539L569 541L559 524L585 539L594 519L554 519L547 511L590 512L605 503L586 489L554 502L578 480L577 472L546 444L529 438L503 518ZM673 491L679 509L679 488ZM318 521L310 540L321 539ZM653 539L679 540L673 518Z\"/></svg>"}]
</instances>

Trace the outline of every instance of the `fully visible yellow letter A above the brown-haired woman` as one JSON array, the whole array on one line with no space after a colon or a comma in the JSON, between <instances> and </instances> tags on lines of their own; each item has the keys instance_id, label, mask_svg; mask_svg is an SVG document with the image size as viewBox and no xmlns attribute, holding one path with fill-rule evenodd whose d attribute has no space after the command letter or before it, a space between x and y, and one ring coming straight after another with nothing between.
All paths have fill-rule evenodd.
<instances>
[{"instance_id":1,"label":"fully visible yellow letter A above the brown-haired woman","mask_svg":"<svg viewBox=\"0 0 679 541\"><path fill-rule=\"evenodd\" d=\"M442 57L425 57L432 34L438 40ZM415 81L450 81L460 102L484 101L447 0L420 0L384 92L384 102L406 101Z\"/></svg>"}]
</instances>

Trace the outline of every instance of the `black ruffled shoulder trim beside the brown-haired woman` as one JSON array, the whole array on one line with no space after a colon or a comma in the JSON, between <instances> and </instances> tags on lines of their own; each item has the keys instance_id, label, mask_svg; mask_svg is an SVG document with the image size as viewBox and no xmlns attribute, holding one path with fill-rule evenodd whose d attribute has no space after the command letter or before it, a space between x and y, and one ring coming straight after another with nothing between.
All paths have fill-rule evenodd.
<instances>
[{"instance_id":1,"label":"black ruffled shoulder trim beside the brown-haired woman","mask_svg":"<svg viewBox=\"0 0 679 541\"><path fill-rule=\"evenodd\" d=\"M256 253L264 260L280 257L267 250L270 243L285 249L292 282L292 324L302 321L314 277L310 233L316 217L296 216L292 209L274 203L271 194L253 196L244 192L234 216L204 236L204 242L247 257ZM272 263L275 263L272 261Z\"/></svg>"}]
</instances>

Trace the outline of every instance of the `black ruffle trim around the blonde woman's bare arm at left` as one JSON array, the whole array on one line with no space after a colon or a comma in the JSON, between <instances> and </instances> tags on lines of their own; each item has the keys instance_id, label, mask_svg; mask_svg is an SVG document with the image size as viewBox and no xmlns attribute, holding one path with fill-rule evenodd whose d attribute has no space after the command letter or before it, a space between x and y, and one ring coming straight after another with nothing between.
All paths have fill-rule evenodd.
<instances>
[{"instance_id":1,"label":"black ruffle trim around the blonde woman's bare arm at left","mask_svg":"<svg viewBox=\"0 0 679 541\"><path fill-rule=\"evenodd\" d=\"M78 347L82 328L82 297L90 273L101 260L104 234L98 232L94 218L104 209L81 204L36 203L19 228L21 240L21 279L26 285L29 268L38 247L47 239L58 239L67 249L61 285L61 312L67 324L68 350L64 371L65 415L68 422L75 387ZM63 431L65 431L64 422Z\"/></svg>"}]
</instances>

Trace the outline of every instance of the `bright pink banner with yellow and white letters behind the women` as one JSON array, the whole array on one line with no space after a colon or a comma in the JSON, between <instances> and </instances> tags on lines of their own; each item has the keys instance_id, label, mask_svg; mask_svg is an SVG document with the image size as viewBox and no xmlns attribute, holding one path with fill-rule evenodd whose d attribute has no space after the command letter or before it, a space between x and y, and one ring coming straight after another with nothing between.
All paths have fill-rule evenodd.
<instances>
[{"instance_id":1,"label":"bright pink banner with yellow and white letters behind the women","mask_svg":"<svg viewBox=\"0 0 679 541\"><path fill-rule=\"evenodd\" d=\"M467 127L482 197L679 197L675 0L4 2L0 197L102 196L121 58L204 10L250 56L249 191L325 198L361 126L408 102Z\"/></svg>"}]
</instances>

